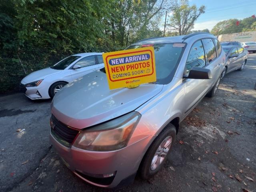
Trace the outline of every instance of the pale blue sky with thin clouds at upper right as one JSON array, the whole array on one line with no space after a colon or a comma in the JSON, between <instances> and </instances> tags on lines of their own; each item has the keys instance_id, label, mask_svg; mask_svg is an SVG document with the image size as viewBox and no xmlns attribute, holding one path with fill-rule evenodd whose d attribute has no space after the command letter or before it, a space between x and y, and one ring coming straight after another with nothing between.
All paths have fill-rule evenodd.
<instances>
[{"instance_id":1,"label":"pale blue sky with thin clouds at upper right","mask_svg":"<svg viewBox=\"0 0 256 192\"><path fill-rule=\"evenodd\" d=\"M190 5L198 8L206 6L205 13L200 15L193 30L212 30L222 20L243 19L256 15L256 0L189 0Z\"/></svg>"}]
</instances>

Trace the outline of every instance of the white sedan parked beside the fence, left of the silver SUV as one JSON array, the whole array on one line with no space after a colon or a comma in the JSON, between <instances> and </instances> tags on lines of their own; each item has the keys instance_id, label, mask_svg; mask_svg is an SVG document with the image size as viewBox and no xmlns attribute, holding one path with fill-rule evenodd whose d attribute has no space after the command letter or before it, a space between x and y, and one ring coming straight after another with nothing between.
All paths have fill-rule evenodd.
<instances>
[{"instance_id":1,"label":"white sedan parked beside the fence, left of the silver SUV","mask_svg":"<svg viewBox=\"0 0 256 192\"><path fill-rule=\"evenodd\" d=\"M80 53L55 65L32 72L20 82L20 88L32 99L53 98L63 86L104 67L102 53Z\"/></svg>"}]
</instances>

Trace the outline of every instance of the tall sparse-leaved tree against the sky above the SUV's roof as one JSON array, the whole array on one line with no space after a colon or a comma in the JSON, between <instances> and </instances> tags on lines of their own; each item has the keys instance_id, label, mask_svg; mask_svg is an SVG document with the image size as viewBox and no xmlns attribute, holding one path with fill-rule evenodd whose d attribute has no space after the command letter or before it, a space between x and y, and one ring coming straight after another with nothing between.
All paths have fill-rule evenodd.
<instances>
[{"instance_id":1,"label":"tall sparse-leaved tree against the sky above the SUV's roof","mask_svg":"<svg viewBox=\"0 0 256 192\"><path fill-rule=\"evenodd\" d=\"M178 31L179 35L185 35L194 27L194 22L204 13L205 6L197 8L189 5L188 0L175 0L172 2L172 16L167 24L170 30Z\"/></svg>"}]
</instances>

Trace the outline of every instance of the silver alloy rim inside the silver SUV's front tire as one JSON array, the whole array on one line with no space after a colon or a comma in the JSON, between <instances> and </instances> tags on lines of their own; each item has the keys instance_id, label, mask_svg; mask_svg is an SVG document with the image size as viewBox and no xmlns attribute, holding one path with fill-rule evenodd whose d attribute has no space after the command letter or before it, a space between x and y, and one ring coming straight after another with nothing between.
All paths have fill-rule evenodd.
<instances>
[{"instance_id":1,"label":"silver alloy rim inside the silver SUV's front tire","mask_svg":"<svg viewBox=\"0 0 256 192\"><path fill-rule=\"evenodd\" d=\"M162 141L162 143L156 150L154 157L152 159L152 162L150 165L150 169L152 171L156 170L156 168L158 168L160 164L162 164L162 162L164 161L164 159L168 154L168 151L170 150L171 145L172 145L172 136L168 136Z\"/></svg>"}]
</instances>

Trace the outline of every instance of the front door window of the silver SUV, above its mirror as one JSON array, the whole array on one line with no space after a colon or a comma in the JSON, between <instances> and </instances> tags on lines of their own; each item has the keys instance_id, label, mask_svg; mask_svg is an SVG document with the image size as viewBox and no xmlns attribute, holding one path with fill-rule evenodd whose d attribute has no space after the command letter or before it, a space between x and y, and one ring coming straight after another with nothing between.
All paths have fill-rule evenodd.
<instances>
[{"instance_id":1,"label":"front door window of the silver SUV, above its mirror","mask_svg":"<svg viewBox=\"0 0 256 192\"><path fill-rule=\"evenodd\" d=\"M186 62L186 75L192 67L203 67L205 66L204 47L201 40L194 43L188 54Z\"/></svg>"}]
</instances>

